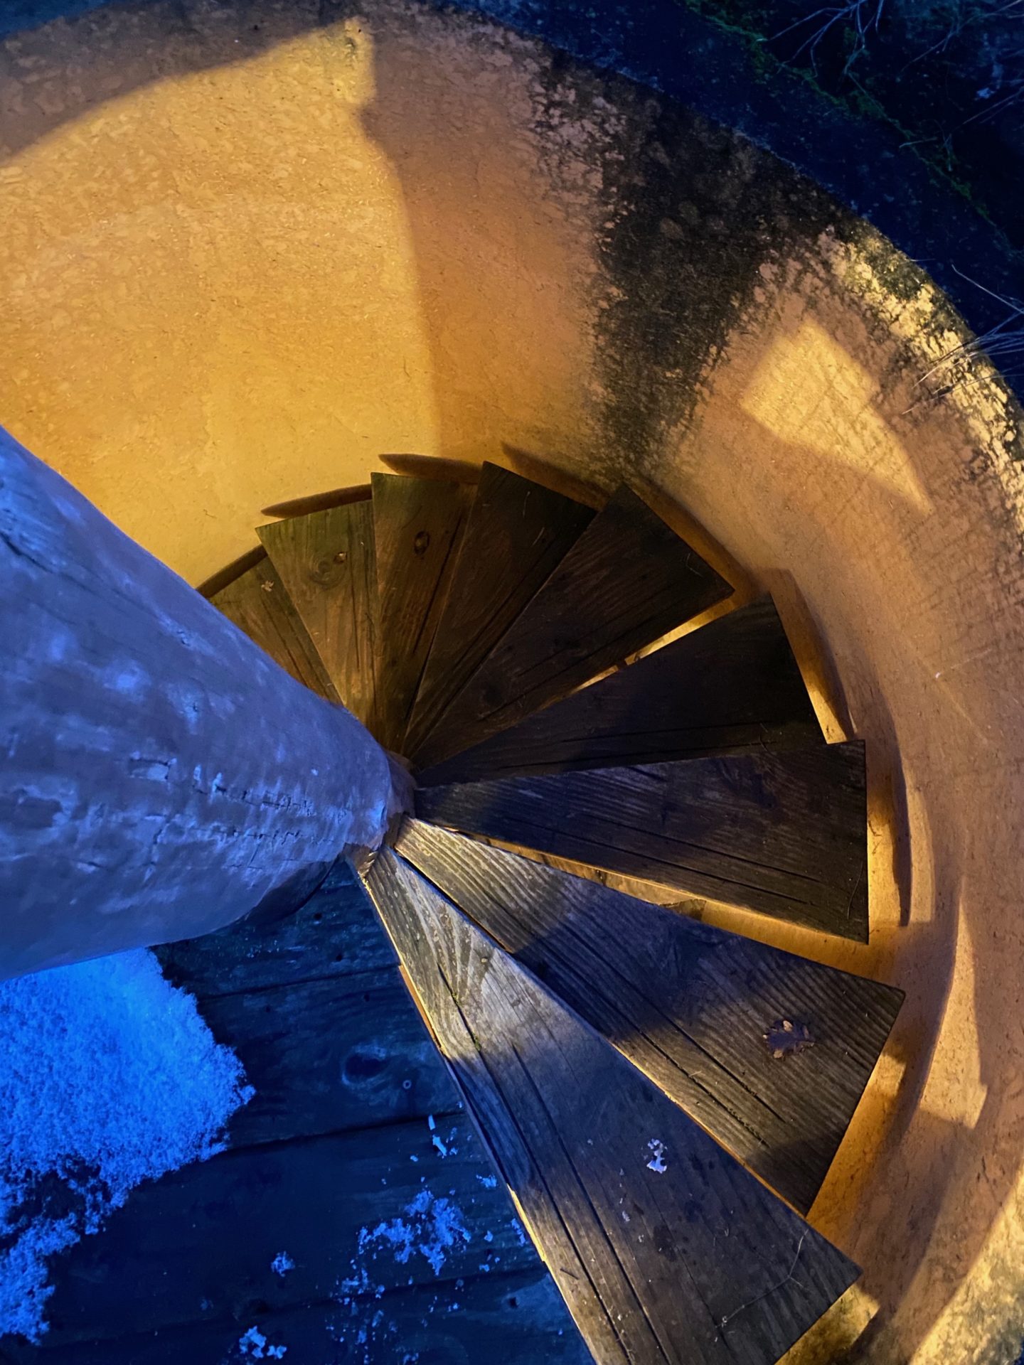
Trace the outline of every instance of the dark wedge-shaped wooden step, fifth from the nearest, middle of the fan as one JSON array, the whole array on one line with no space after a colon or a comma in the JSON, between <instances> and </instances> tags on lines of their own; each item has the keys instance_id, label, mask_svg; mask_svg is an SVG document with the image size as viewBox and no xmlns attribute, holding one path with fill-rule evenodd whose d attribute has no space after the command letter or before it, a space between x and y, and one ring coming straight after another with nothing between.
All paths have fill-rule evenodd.
<instances>
[{"instance_id":1,"label":"dark wedge-shaped wooden step, fifth from the nearest, middle of the fan","mask_svg":"<svg viewBox=\"0 0 1024 1365\"><path fill-rule=\"evenodd\" d=\"M416 764L507 730L730 592L623 486L453 699Z\"/></svg>"}]
</instances>

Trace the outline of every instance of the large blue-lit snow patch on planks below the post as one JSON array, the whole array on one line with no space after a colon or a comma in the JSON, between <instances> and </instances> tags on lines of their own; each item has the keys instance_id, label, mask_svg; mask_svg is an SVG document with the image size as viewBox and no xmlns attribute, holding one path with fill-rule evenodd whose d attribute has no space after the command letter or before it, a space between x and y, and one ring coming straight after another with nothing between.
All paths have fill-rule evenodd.
<instances>
[{"instance_id":1,"label":"large blue-lit snow patch on planks below the post","mask_svg":"<svg viewBox=\"0 0 1024 1365\"><path fill-rule=\"evenodd\" d=\"M243 1080L146 950L0 981L0 1336L38 1342L48 1260L223 1149Z\"/></svg>"}]
</instances>

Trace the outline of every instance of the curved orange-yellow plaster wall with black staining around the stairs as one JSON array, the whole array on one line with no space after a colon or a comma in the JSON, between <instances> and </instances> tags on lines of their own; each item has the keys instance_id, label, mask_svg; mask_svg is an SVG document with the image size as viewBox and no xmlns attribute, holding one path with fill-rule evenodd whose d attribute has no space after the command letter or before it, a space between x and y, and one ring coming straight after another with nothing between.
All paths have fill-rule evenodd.
<instances>
[{"instance_id":1,"label":"curved orange-yellow plaster wall with black staining around the stairs","mask_svg":"<svg viewBox=\"0 0 1024 1365\"><path fill-rule=\"evenodd\" d=\"M0 422L198 581L385 450L625 475L769 587L870 762L908 992L791 1354L1024 1336L1020 414L927 274L740 136L399 0L101 8L0 45ZM741 566L741 568L740 568Z\"/></svg>"}]
</instances>

